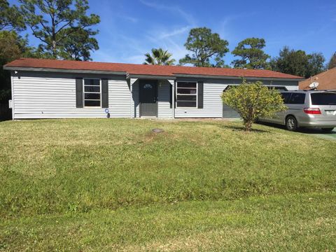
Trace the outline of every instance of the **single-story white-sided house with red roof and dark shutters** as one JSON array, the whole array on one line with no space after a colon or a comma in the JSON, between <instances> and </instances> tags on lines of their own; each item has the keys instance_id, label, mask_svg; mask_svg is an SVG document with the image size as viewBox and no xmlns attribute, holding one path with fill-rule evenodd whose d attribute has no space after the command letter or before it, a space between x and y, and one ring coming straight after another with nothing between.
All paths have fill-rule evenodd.
<instances>
[{"instance_id":1,"label":"single-story white-sided house with red roof and dark shutters","mask_svg":"<svg viewBox=\"0 0 336 252\"><path fill-rule=\"evenodd\" d=\"M221 94L241 77L288 90L302 80L269 70L55 59L16 59L3 69L11 72L13 119L231 118Z\"/></svg>"}]
</instances>

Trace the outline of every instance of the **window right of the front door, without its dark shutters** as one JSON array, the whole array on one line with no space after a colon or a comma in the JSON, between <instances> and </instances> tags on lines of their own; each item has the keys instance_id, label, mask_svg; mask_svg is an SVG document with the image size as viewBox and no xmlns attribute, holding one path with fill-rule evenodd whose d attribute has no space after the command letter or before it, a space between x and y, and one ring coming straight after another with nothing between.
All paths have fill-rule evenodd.
<instances>
[{"instance_id":1,"label":"window right of the front door, without its dark shutters","mask_svg":"<svg viewBox=\"0 0 336 252\"><path fill-rule=\"evenodd\" d=\"M176 107L197 108L197 83L176 83Z\"/></svg>"}]
</instances>

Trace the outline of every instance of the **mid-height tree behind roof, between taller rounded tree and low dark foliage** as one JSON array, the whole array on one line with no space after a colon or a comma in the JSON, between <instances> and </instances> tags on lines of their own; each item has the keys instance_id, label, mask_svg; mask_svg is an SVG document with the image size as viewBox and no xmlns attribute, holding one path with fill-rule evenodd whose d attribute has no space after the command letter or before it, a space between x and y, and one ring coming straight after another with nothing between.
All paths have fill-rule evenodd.
<instances>
[{"instance_id":1,"label":"mid-height tree behind roof, between taller rounded tree and low dark foliage","mask_svg":"<svg viewBox=\"0 0 336 252\"><path fill-rule=\"evenodd\" d=\"M267 55L262 48L265 47L264 38L246 38L238 43L232 54L241 59L235 59L232 64L241 69L266 69Z\"/></svg>"}]
</instances>

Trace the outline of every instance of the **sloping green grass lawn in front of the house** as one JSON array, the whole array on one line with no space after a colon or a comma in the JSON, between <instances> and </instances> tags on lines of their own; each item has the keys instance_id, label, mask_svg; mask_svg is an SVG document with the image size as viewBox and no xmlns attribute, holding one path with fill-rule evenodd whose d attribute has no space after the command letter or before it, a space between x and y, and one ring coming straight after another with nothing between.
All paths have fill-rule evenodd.
<instances>
[{"instance_id":1,"label":"sloping green grass lawn in front of the house","mask_svg":"<svg viewBox=\"0 0 336 252\"><path fill-rule=\"evenodd\" d=\"M336 141L253 128L1 122L0 251L335 251Z\"/></svg>"}]
</instances>

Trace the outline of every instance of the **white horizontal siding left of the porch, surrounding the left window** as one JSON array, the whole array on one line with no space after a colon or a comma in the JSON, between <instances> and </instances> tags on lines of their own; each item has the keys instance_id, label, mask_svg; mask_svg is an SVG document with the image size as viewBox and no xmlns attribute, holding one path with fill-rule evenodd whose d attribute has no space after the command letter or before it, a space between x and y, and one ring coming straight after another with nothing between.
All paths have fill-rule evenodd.
<instances>
[{"instance_id":1,"label":"white horizontal siding left of the porch, surrounding the left window","mask_svg":"<svg viewBox=\"0 0 336 252\"><path fill-rule=\"evenodd\" d=\"M105 109L76 108L75 76L61 73L19 74L13 76L15 119L106 118ZM130 90L123 78L109 80L109 107L111 117L130 117Z\"/></svg>"}]
</instances>

